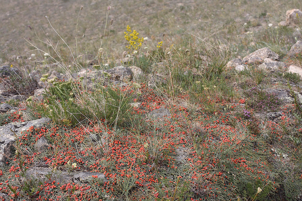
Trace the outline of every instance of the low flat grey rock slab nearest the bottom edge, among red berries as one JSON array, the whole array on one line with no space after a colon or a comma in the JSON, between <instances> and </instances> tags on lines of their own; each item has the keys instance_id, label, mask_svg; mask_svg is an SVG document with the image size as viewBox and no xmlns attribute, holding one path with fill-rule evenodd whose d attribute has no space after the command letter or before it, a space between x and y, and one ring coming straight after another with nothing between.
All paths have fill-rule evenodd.
<instances>
[{"instance_id":1,"label":"low flat grey rock slab nearest the bottom edge, among red berries","mask_svg":"<svg viewBox=\"0 0 302 201\"><path fill-rule=\"evenodd\" d=\"M93 177L92 177L93 176ZM27 179L36 179L37 181L53 181L60 182L60 184L67 184L69 182L87 182L91 179L98 178L101 181L105 181L104 174L99 172L67 172L59 171L52 168L30 168L26 171Z\"/></svg>"}]
</instances>

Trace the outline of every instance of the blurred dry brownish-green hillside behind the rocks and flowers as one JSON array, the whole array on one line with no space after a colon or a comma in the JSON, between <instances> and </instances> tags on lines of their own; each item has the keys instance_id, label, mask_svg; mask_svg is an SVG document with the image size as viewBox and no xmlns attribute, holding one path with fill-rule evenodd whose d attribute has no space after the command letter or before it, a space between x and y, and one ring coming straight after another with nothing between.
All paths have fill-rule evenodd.
<instances>
[{"instance_id":1,"label":"blurred dry brownish-green hillside behind the rocks and flowers","mask_svg":"<svg viewBox=\"0 0 302 201\"><path fill-rule=\"evenodd\" d=\"M9 3L1 0L0 2L2 5L0 8L0 48L11 55L17 43L21 56L25 57L29 57L32 52L27 52L33 49L25 39L31 39L34 44L38 44L36 39L44 41L47 36L52 39L52 42L58 42L58 36L45 16L48 16L54 29L66 40L67 44L71 48L74 47L77 17L81 5L84 8L80 13L78 23L79 50L85 54L95 55L101 45L100 38L104 36L106 11L107 6L110 5L112 9L108 19L114 20L110 30L108 54L115 58L120 57L125 50L124 31L128 24L137 30L140 36L148 37L145 41L147 44L154 44L153 41L161 40L164 32L166 33L164 47L169 47L176 41L196 43L194 40L196 37L191 37L189 35L191 33L207 42L215 43L216 39L220 39L221 43L227 45L228 48L233 48L235 50L233 52L239 48L237 54L243 55L250 48L256 49L250 46L250 42L253 41L252 36L246 37L244 33L265 29L270 23L277 26L278 22L285 19L287 10L301 8L302 4L298 0L15 0ZM244 25L245 23L247 25ZM83 33L85 33L85 38L82 38ZM105 36L108 36L108 33L109 29L106 29ZM255 33L250 35L253 34ZM256 43L256 45L263 44ZM64 52L65 47L60 41L58 49ZM103 45L104 49L106 47L107 44ZM3 56L1 58L3 59ZM2 60L2 62L5 61Z\"/></svg>"}]
</instances>

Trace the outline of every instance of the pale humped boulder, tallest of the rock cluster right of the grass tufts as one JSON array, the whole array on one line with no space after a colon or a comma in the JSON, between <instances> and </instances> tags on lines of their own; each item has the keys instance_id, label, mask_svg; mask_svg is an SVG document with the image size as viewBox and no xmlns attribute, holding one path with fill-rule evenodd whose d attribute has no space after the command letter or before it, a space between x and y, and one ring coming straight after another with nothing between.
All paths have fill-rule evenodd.
<instances>
[{"instance_id":1,"label":"pale humped boulder, tallest of the rock cluster right of the grass tufts","mask_svg":"<svg viewBox=\"0 0 302 201\"><path fill-rule=\"evenodd\" d=\"M265 47L247 55L242 59L242 62L247 64L256 63L263 61L265 58L270 58L271 60L278 60L280 57L278 54Z\"/></svg>"}]
</instances>

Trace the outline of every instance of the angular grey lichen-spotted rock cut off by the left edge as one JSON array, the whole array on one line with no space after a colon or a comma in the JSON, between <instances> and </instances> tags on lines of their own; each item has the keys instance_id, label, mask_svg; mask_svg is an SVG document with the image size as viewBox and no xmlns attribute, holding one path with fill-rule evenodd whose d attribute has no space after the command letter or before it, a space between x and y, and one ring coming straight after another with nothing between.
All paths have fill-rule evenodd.
<instances>
[{"instance_id":1,"label":"angular grey lichen-spotted rock cut off by the left edge","mask_svg":"<svg viewBox=\"0 0 302 201\"><path fill-rule=\"evenodd\" d=\"M26 122L12 122L0 127L0 167L5 165L6 159L11 156L11 152L16 142L15 135L19 135L21 131L28 130L31 126L34 128L42 127L50 122L50 118L42 118Z\"/></svg>"}]
</instances>

